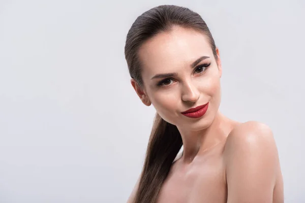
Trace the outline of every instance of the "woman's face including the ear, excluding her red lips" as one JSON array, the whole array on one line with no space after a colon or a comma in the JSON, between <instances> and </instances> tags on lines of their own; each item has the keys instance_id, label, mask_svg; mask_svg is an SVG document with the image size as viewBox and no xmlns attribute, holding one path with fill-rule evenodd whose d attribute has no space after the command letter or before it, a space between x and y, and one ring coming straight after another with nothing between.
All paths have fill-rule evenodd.
<instances>
[{"instance_id":1,"label":"woman's face including the ear, excluding her red lips","mask_svg":"<svg viewBox=\"0 0 305 203\"><path fill-rule=\"evenodd\" d=\"M138 54L143 88L131 82L145 105L153 104L164 120L180 128L200 130L211 124L221 101L222 71L205 35L174 26L146 41ZM181 114L206 103L208 109L200 118Z\"/></svg>"}]
</instances>

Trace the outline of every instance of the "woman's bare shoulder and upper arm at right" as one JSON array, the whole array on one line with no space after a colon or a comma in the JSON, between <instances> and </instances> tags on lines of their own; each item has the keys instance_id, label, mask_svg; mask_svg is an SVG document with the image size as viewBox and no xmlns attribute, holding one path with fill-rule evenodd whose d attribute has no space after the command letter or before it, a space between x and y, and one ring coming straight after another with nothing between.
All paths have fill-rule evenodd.
<instances>
[{"instance_id":1,"label":"woman's bare shoulder and upper arm at right","mask_svg":"<svg viewBox=\"0 0 305 203\"><path fill-rule=\"evenodd\" d=\"M229 134L224 151L228 203L271 203L279 156L271 129L249 121Z\"/></svg>"}]
</instances>

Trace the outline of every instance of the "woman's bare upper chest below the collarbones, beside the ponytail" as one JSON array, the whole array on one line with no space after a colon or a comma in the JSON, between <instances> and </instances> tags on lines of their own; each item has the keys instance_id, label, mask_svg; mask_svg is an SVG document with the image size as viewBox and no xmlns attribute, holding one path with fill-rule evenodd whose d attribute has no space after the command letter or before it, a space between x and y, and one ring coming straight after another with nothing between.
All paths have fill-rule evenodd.
<instances>
[{"instance_id":1,"label":"woman's bare upper chest below the collarbones, beside the ponytail","mask_svg":"<svg viewBox=\"0 0 305 203\"><path fill-rule=\"evenodd\" d=\"M199 161L188 170L175 167L159 193L158 203L226 202L225 167L220 157Z\"/></svg>"}]
</instances>

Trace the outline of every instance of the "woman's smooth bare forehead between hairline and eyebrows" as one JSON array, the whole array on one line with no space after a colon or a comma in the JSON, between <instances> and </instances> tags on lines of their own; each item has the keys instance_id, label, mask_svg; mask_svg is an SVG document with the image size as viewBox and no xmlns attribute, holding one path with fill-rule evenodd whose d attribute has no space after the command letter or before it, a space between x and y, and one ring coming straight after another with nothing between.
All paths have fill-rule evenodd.
<instances>
[{"instance_id":1,"label":"woman's smooth bare forehead between hairline and eyebrows","mask_svg":"<svg viewBox=\"0 0 305 203\"><path fill-rule=\"evenodd\" d=\"M146 41L138 54L144 76L175 72L201 56L212 57L212 50L203 33L175 26L170 32L158 33Z\"/></svg>"}]
</instances>

